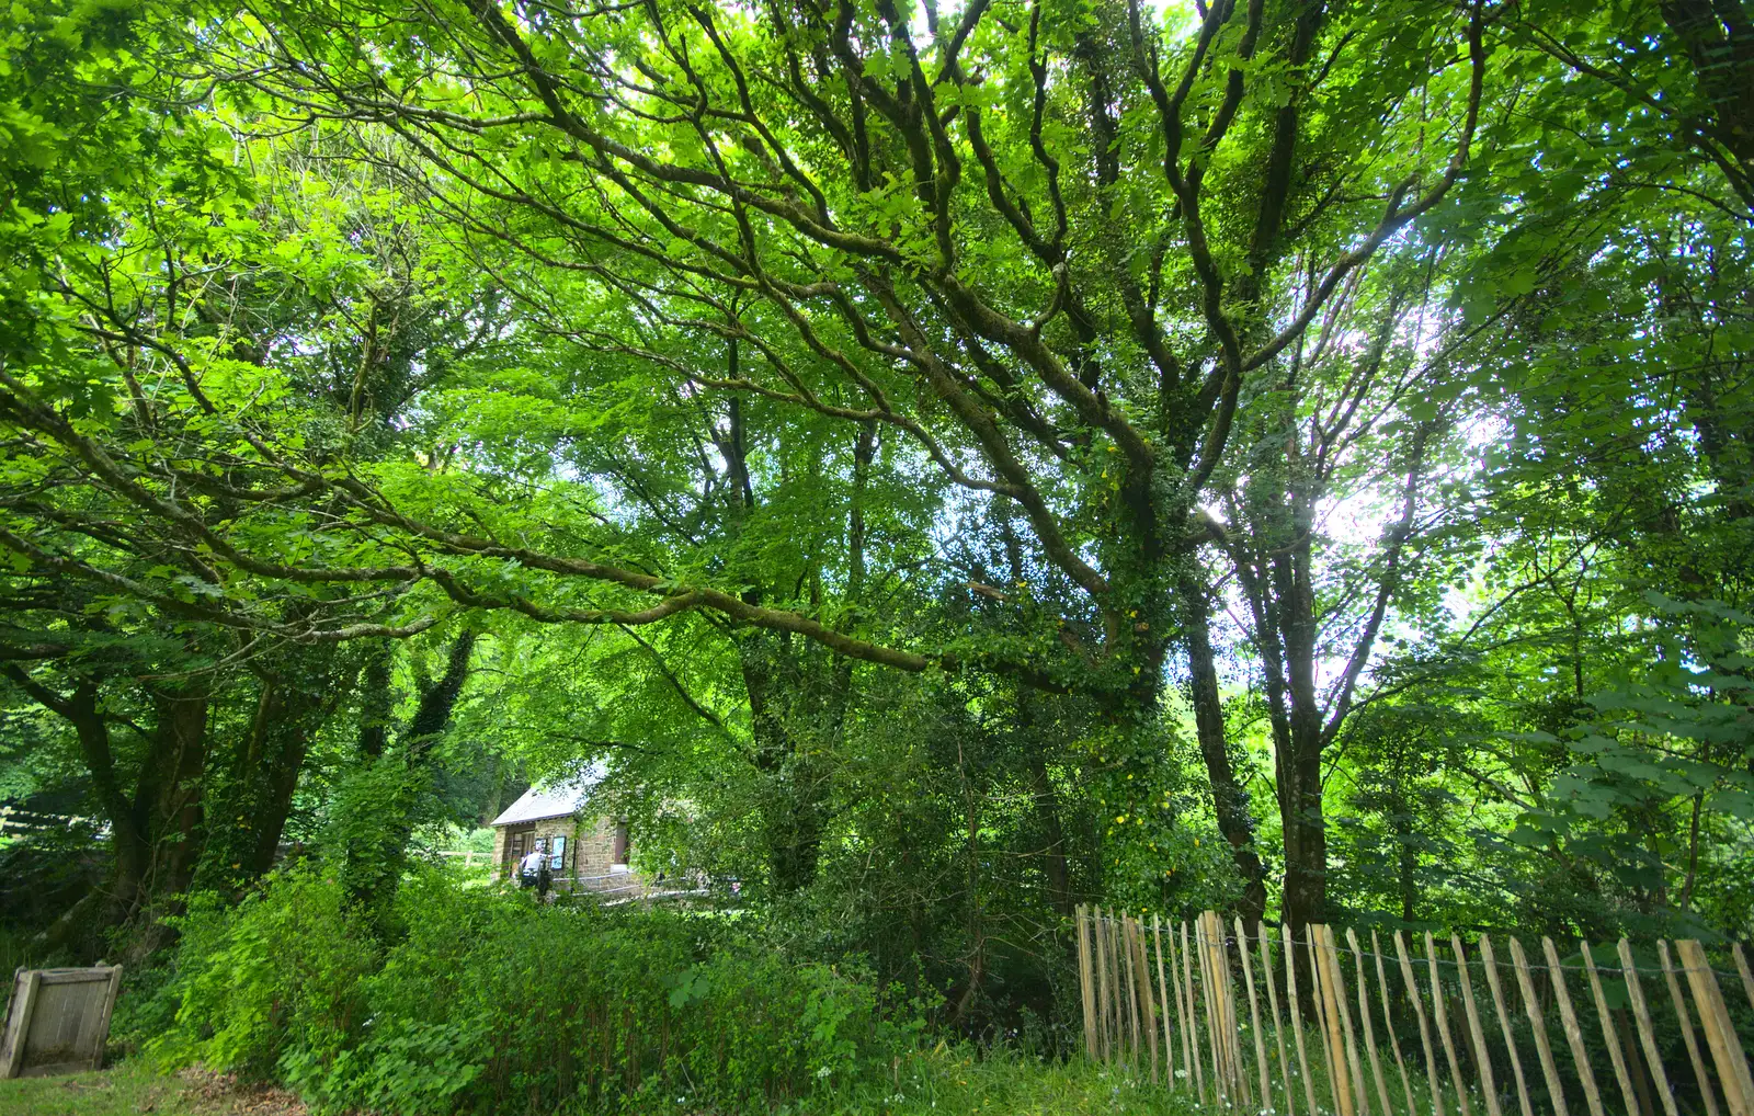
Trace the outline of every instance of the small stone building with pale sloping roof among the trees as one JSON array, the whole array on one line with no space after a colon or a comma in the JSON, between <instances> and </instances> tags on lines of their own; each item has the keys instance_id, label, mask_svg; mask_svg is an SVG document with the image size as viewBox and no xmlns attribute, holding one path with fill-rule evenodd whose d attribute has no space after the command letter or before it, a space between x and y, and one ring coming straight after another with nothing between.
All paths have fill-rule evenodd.
<instances>
[{"instance_id":1,"label":"small stone building with pale sloping roof among the trees","mask_svg":"<svg viewBox=\"0 0 1754 1116\"><path fill-rule=\"evenodd\" d=\"M531 849L549 858L556 891L642 891L644 881L631 869L626 818L603 814L591 805L591 790L603 779L602 765L553 784L531 786L495 818L495 876L509 879Z\"/></svg>"}]
</instances>

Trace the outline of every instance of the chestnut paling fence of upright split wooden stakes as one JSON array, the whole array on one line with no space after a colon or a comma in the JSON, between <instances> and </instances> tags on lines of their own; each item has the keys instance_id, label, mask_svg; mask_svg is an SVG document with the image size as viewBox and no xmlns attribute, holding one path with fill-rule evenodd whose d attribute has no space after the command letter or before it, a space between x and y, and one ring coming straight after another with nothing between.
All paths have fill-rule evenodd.
<instances>
[{"instance_id":1,"label":"chestnut paling fence of upright split wooden stakes","mask_svg":"<svg viewBox=\"0 0 1754 1116\"><path fill-rule=\"evenodd\" d=\"M1102 907L1079 907L1077 944L1086 1055L1214 1105L1754 1116L1740 944L1719 955L1724 969L1696 941L1561 956L1547 937L1526 949L1370 930L1366 949L1333 926L1293 935L1210 911L1165 923Z\"/></svg>"}]
</instances>

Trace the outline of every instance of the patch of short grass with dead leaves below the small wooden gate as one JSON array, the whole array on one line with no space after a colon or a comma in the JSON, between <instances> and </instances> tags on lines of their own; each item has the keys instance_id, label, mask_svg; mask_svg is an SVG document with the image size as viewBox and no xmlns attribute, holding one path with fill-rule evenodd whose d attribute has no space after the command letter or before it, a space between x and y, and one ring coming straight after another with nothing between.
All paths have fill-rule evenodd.
<instances>
[{"instance_id":1,"label":"patch of short grass with dead leaves below the small wooden gate","mask_svg":"<svg viewBox=\"0 0 1754 1116\"><path fill-rule=\"evenodd\" d=\"M288 1093L249 1093L216 1074L163 1076L140 1062L63 1077L0 1081L7 1116L303 1116Z\"/></svg>"}]
</instances>

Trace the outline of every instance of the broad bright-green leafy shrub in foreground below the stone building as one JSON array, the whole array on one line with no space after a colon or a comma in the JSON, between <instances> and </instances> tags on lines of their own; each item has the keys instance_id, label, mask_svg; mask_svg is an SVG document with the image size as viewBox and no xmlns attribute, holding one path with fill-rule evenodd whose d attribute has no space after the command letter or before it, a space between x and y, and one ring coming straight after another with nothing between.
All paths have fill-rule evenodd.
<instances>
[{"instance_id":1,"label":"broad bright-green leafy shrub in foreground below the stone building","mask_svg":"<svg viewBox=\"0 0 1754 1116\"><path fill-rule=\"evenodd\" d=\"M191 916L182 1056L398 1116L737 1111L838 1093L910 1039L863 974L709 916L537 907L431 869L395 921L407 934L379 955L310 870Z\"/></svg>"}]
</instances>

